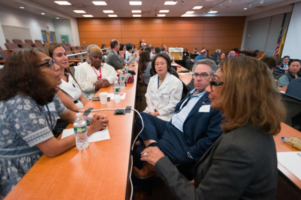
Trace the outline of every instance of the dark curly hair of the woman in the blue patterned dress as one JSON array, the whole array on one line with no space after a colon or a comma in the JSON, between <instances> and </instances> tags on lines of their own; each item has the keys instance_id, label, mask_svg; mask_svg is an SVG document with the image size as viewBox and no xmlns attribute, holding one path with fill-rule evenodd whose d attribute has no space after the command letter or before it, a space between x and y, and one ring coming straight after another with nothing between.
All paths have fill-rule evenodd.
<instances>
[{"instance_id":1,"label":"dark curly hair of the woman in the blue patterned dress","mask_svg":"<svg viewBox=\"0 0 301 200\"><path fill-rule=\"evenodd\" d=\"M53 101L57 90L47 89L47 81L41 79L38 52L45 53L39 48L23 48L8 56L0 73L0 101L17 94L29 96L42 106Z\"/></svg>"}]
</instances>

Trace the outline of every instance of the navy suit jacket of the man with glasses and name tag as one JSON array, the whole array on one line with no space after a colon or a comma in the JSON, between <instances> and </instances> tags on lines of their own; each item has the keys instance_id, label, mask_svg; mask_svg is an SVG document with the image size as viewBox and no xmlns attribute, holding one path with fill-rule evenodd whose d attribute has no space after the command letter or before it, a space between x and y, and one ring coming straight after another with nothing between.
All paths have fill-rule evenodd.
<instances>
[{"instance_id":1,"label":"navy suit jacket of the man with glasses and name tag","mask_svg":"<svg viewBox=\"0 0 301 200\"><path fill-rule=\"evenodd\" d=\"M192 90L194 88L192 88ZM188 92L187 96L177 104L175 112L180 109L182 103L189 95L190 92ZM201 113L199 112L199 109L202 105L211 105L211 102L208 99L208 93L205 93L200 98L183 124L183 133L189 146L188 151L196 162L201 159L201 156L223 132L220 128L222 120L220 111L210 108L208 113Z\"/></svg>"}]
</instances>

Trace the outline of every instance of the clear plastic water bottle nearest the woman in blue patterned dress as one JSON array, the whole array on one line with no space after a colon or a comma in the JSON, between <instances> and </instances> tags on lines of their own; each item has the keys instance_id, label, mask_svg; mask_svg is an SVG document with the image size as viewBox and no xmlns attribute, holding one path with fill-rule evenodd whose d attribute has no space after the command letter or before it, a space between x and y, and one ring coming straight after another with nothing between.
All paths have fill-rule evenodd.
<instances>
[{"instance_id":1,"label":"clear plastic water bottle nearest the woman in blue patterned dress","mask_svg":"<svg viewBox=\"0 0 301 200\"><path fill-rule=\"evenodd\" d=\"M75 143L78 150L84 150L89 147L87 122L82 115L81 113L77 113L76 119L73 121Z\"/></svg>"}]
</instances>

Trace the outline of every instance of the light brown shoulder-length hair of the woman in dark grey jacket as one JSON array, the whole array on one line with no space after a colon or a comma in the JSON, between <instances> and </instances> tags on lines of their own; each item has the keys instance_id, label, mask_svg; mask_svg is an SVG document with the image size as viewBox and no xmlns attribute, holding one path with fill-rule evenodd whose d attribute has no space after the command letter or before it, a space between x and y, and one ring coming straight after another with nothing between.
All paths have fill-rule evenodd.
<instances>
[{"instance_id":1,"label":"light brown shoulder-length hair of the woman in dark grey jacket","mask_svg":"<svg viewBox=\"0 0 301 200\"><path fill-rule=\"evenodd\" d=\"M224 131L250 124L266 134L279 133L286 109L271 71L261 61L245 56L221 63L224 85Z\"/></svg>"}]
</instances>

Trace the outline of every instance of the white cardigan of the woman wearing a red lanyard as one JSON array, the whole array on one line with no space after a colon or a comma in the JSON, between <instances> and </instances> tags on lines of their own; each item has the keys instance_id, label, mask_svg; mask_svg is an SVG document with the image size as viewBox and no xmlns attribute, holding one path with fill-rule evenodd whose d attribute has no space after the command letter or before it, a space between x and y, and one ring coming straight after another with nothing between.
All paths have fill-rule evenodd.
<instances>
[{"instance_id":1,"label":"white cardigan of the woman wearing a red lanyard","mask_svg":"<svg viewBox=\"0 0 301 200\"><path fill-rule=\"evenodd\" d=\"M94 71L95 70L95 71ZM96 73L95 73L96 72ZM100 76L99 70L91 67L87 62L75 67L75 79L81 86L86 98L91 99L97 91L93 83L98 81ZM118 80L117 73L114 68L106 63L101 64L101 79L107 79L110 84L113 84L115 80Z\"/></svg>"}]
</instances>

